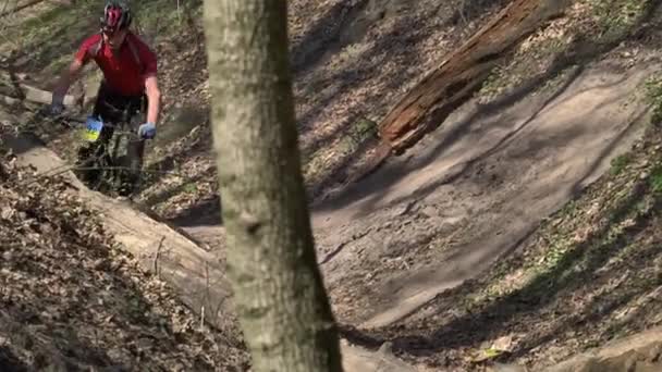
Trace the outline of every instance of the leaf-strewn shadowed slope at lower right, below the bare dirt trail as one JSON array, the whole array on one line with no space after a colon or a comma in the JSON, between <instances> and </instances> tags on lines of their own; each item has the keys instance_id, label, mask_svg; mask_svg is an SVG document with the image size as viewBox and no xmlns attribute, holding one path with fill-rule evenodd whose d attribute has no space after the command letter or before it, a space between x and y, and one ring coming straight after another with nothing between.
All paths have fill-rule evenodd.
<instances>
[{"instance_id":1,"label":"leaf-strewn shadowed slope at lower right, below the bare dirt trail","mask_svg":"<svg viewBox=\"0 0 662 372\"><path fill-rule=\"evenodd\" d=\"M483 350L495 348L485 359L540 370L659 325L660 140L660 128L649 127L626 165L551 215L493 270L389 326L347 335L363 345L390 340L406 360L437 368L479 371Z\"/></svg>"}]
</instances>

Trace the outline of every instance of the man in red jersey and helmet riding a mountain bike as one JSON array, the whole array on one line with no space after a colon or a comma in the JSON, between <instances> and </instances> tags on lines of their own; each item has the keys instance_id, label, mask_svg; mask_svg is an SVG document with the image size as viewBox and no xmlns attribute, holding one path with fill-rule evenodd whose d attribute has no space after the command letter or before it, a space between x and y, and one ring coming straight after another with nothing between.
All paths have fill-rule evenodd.
<instances>
[{"instance_id":1,"label":"man in red jersey and helmet riding a mountain bike","mask_svg":"<svg viewBox=\"0 0 662 372\"><path fill-rule=\"evenodd\" d=\"M106 123L118 123L118 111L128 110L131 119L136 114L147 113L147 120L137 128L137 139L131 139L127 148L130 160L130 182L120 189L120 195L133 194L139 179L145 152L145 139L156 135L156 123L160 111L160 91L157 84L157 58L150 48L133 34L128 26L132 15L128 5L111 0L106 3L101 17L101 30L83 41L73 62L62 74L53 89L51 113L63 111L63 99L78 73L94 60L101 72L103 80L99 86L93 116ZM105 144L112 137L112 127L103 126L100 140ZM77 163L84 163L95 153L96 145L83 146L78 150ZM98 172L83 172L89 181Z\"/></svg>"}]
</instances>

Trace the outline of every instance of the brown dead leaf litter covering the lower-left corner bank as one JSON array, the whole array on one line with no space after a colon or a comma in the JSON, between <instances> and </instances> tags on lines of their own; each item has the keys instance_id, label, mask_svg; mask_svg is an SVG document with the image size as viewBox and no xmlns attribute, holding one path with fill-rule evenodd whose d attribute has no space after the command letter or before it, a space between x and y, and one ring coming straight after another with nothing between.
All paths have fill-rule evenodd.
<instances>
[{"instance_id":1,"label":"brown dead leaf litter covering the lower-left corner bank","mask_svg":"<svg viewBox=\"0 0 662 372\"><path fill-rule=\"evenodd\" d=\"M61 178L0 159L0 370L245 371L240 335L200 327Z\"/></svg>"}]
</instances>

